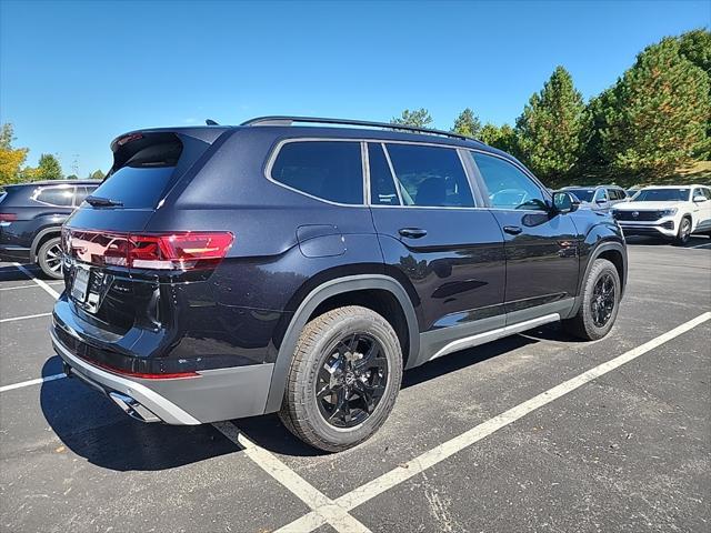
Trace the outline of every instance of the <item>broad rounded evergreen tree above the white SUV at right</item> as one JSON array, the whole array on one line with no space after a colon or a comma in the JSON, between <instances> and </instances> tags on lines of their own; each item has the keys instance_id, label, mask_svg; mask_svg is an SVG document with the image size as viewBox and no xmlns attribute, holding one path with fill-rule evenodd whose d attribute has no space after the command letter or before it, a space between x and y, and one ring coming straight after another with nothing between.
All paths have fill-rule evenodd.
<instances>
[{"instance_id":1,"label":"broad rounded evergreen tree above the white SUV at right","mask_svg":"<svg viewBox=\"0 0 711 533\"><path fill-rule=\"evenodd\" d=\"M678 39L644 49L601 95L601 150L615 172L661 177L707 142L708 76L680 53Z\"/></svg>"}]
</instances>

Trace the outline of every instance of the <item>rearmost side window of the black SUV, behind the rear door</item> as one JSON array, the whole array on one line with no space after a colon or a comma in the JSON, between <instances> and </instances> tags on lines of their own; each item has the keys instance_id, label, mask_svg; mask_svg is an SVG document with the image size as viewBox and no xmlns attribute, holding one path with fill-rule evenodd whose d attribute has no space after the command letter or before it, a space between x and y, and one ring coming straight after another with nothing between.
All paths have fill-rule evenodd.
<instances>
[{"instance_id":1,"label":"rearmost side window of the black SUV, behind the rear door","mask_svg":"<svg viewBox=\"0 0 711 533\"><path fill-rule=\"evenodd\" d=\"M271 178L323 200L363 203L363 168L359 142L288 142L281 147L274 160Z\"/></svg>"}]
</instances>

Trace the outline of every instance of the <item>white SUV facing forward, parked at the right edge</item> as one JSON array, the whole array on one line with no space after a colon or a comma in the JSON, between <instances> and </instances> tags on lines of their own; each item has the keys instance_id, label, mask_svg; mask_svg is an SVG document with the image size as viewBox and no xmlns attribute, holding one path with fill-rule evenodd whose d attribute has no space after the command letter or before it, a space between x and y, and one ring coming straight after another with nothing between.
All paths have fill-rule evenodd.
<instances>
[{"instance_id":1,"label":"white SUV facing forward, parked at the right edge","mask_svg":"<svg viewBox=\"0 0 711 533\"><path fill-rule=\"evenodd\" d=\"M705 185L645 187L629 202L614 207L613 217L625 235L673 239L711 234L711 188Z\"/></svg>"}]
</instances>

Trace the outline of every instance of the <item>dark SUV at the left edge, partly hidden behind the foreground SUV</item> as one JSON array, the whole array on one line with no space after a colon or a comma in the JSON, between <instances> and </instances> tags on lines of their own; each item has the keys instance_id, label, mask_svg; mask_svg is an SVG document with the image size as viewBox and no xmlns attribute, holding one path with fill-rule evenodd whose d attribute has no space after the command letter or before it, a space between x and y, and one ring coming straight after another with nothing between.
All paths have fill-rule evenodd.
<instances>
[{"instance_id":1,"label":"dark SUV at the left edge, partly hidden behind the foreground SUV","mask_svg":"<svg viewBox=\"0 0 711 533\"><path fill-rule=\"evenodd\" d=\"M61 225L98 180L52 180L4 185L0 194L0 260L37 263L61 279Z\"/></svg>"}]
</instances>

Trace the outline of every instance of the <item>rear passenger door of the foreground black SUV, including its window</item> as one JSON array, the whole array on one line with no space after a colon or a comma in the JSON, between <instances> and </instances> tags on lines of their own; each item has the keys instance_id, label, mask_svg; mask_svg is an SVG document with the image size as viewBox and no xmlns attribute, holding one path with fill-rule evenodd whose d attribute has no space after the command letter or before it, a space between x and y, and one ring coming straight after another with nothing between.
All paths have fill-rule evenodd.
<instances>
[{"instance_id":1,"label":"rear passenger door of the foreground black SUV, including its window","mask_svg":"<svg viewBox=\"0 0 711 533\"><path fill-rule=\"evenodd\" d=\"M502 326L503 238L474 200L459 151L369 142L367 153L385 268L417 293L422 356L453 336Z\"/></svg>"}]
</instances>

